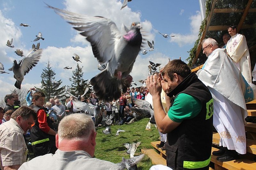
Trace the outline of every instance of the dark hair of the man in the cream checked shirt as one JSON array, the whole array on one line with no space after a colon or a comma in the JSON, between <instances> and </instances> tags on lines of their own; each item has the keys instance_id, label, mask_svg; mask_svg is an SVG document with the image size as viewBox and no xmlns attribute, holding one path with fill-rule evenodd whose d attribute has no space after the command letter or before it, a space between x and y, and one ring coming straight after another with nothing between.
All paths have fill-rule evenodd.
<instances>
[{"instance_id":1,"label":"dark hair of the man in the cream checked shirt","mask_svg":"<svg viewBox=\"0 0 256 170\"><path fill-rule=\"evenodd\" d=\"M37 120L37 113L34 109L28 106L22 106L12 113L11 118L16 120L18 116L21 116L24 120L28 120L30 115L33 116L34 120Z\"/></svg>"}]
</instances>

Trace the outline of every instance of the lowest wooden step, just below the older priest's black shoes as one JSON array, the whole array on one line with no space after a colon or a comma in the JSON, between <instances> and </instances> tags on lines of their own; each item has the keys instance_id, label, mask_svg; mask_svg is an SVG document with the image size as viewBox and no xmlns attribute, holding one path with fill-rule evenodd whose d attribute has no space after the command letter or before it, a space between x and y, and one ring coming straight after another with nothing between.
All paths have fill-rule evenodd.
<instances>
[{"instance_id":1,"label":"lowest wooden step, just below the older priest's black shoes","mask_svg":"<svg viewBox=\"0 0 256 170\"><path fill-rule=\"evenodd\" d=\"M217 151L217 148L212 147L212 152ZM240 156L240 159L237 160L231 160L227 162L221 162L218 161L216 158L217 156L211 155L211 161L214 164L217 164L218 166L224 167L226 169L232 169L232 170L255 170L256 169L256 163L252 160L246 159L242 156ZM216 169L216 166L215 166Z\"/></svg>"}]
</instances>

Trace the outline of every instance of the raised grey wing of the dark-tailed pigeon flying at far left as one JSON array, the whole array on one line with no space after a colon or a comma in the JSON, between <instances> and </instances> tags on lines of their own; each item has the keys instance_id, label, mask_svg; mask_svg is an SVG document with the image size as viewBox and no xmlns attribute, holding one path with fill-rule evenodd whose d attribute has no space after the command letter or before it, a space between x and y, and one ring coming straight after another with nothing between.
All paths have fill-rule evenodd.
<instances>
[{"instance_id":1,"label":"raised grey wing of the dark-tailed pigeon flying at far left","mask_svg":"<svg viewBox=\"0 0 256 170\"><path fill-rule=\"evenodd\" d=\"M35 64L38 63L41 57L42 50L32 51L27 57L23 58L20 62L20 73L26 75Z\"/></svg>"}]
</instances>

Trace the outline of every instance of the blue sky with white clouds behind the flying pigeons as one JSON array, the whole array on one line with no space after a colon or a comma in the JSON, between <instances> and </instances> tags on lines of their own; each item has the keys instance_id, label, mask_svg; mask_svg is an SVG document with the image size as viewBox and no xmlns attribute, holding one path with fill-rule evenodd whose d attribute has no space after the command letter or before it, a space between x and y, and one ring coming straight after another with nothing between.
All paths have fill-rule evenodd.
<instances>
[{"instance_id":1,"label":"blue sky with white clouds behind the flying pigeons","mask_svg":"<svg viewBox=\"0 0 256 170\"><path fill-rule=\"evenodd\" d=\"M167 64L168 58L179 59L181 56L185 61L189 55L187 51L194 46L201 24L198 0L132 0L122 10L120 8L123 0L0 0L0 62L5 71L12 67L13 60L21 59L14 53L16 49L22 49L25 56L30 53L33 43L36 45L40 42L40 48L43 49L39 63L24 77L22 88L25 89L41 86L40 75L48 59L56 73L56 80L63 81L61 86L70 85L68 79L76 67L76 62L72 59L73 53L80 56L80 66L84 66L84 79L90 79L100 72L85 37L52 9L47 8L44 2L79 14L110 18L118 28L122 23L130 26L131 22L140 21L143 31L147 32L145 38L151 42L154 40L155 50L146 55L138 55L131 72L134 81L146 78L149 60L162 63L161 66ZM31 27L20 27L20 23ZM175 37L164 38L158 31ZM42 32L45 40L31 42L38 32ZM11 38L14 48L5 45ZM148 48L147 45L145 48ZM65 70L65 66L72 66L73 69ZM0 98L15 88L14 83L12 72L0 75Z\"/></svg>"}]
</instances>

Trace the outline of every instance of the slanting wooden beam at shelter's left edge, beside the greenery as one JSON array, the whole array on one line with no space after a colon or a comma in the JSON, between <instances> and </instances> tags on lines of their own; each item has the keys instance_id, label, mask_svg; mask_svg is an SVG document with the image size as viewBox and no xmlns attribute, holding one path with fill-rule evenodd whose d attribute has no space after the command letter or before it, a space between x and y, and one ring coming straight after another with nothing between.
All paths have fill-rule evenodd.
<instances>
[{"instance_id":1,"label":"slanting wooden beam at shelter's left edge, beside the greenery","mask_svg":"<svg viewBox=\"0 0 256 170\"><path fill-rule=\"evenodd\" d=\"M206 32L207 32L208 29L209 29L210 22L211 22L211 18L212 18L213 12L214 12L214 7L215 7L215 5L216 5L216 2L217 2L217 0L213 0L213 1L212 1L211 11L210 11L210 13L209 13L209 16L207 16L207 22L206 22L204 31L203 31L203 33L202 33L202 35L201 35L201 38L200 38L200 40L199 40L199 42L198 42L197 50L196 50L196 56L195 56L195 58L193 59L192 64L195 64L195 62L197 61L198 55L199 55L199 53L200 53L201 50L202 50L202 44L201 44L201 42L202 42L203 39L205 38Z\"/></svg>"}]
</instances>

